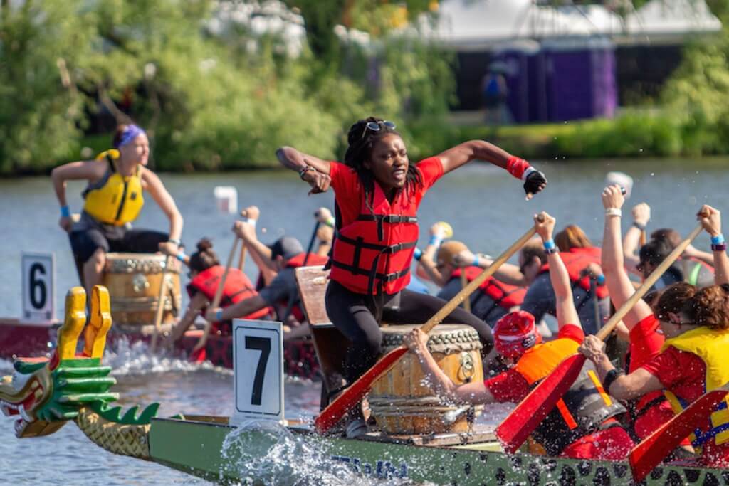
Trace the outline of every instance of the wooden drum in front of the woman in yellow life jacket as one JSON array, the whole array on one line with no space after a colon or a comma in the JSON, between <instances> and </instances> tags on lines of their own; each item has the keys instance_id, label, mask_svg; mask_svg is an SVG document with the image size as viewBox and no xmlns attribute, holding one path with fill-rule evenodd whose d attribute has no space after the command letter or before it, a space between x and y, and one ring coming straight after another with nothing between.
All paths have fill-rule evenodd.
<instances>
[{"instance_id":1,"label":"wooden drum in front of the woman in yellow life jacket","mask_svg":"<svg viewBox=\"0 0 729 486\"><path fill-rule=\"evenodd\" d=\"M171 259L165 277L165 311L163 324L172 324L179 314L179 262ZM124 332L142 332L154 326L157 297L160 295L165 255L147 253L107 253L104 285L109 289L114 328Z\"/></svg>"}]
</instances>

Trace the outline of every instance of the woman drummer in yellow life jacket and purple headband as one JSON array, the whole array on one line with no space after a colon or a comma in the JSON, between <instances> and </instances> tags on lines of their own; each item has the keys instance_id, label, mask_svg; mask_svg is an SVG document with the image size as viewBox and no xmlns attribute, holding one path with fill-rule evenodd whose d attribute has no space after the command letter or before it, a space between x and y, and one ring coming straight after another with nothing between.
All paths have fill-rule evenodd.
<instances>
[{"instance_id":1,"label":"woman drummer in yellow life jacket and purple headband","mask_svg":"<svg viewBox=\"0 0 729 486\"><path fill-rule=\"evenodd\" d=\"M114 149L95 160L70 162L53 169L53 188L61 203L58 224L69 232L74 256L82 262L82 279L87 293L101 282L108 251L177 254L182 233L182 215L164 184L146 165L149 159L147 133L137 125L119 125ZM66 203L66 181L86 179L85 199L79 222L71 221ZM152 230L133 230L133 222L149 192L170 220L169 235Z\"/></svg>"}]
</instances>

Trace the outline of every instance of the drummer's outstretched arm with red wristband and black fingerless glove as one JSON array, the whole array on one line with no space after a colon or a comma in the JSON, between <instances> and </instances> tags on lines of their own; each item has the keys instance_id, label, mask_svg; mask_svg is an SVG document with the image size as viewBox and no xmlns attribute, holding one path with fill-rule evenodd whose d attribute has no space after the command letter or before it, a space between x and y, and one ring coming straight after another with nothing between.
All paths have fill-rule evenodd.
<instances>
[{"instance_id":1,"label":"drummer's outstretched arm with red wristband and black fingerless glove","mask_svg":"<svg viewBox=\"0 0 729 486\"><path fill-rule=\"evenodd\" d=\"M527 199L531 199L532 195L547 187L545 175L531 167L529 162L514 157L504 149L489 144L487 141L471 140L464 142L438 154L438 158L443 164L443 173L451 172L472 160L491 162L500 168L506 169L517 179L524 181Z\"/></svg>"}]
</instances>

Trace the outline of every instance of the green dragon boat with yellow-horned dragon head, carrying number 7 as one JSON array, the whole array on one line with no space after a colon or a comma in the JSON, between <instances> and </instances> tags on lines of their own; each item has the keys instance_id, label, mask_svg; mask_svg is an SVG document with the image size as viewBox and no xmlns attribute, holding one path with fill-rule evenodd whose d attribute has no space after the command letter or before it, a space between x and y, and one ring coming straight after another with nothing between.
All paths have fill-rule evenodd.
<instances>
[{"instance_id":1,"label":"green dragon boat with yellow-horned dragon head, carrying number 7","mask_svg":"<svg viewBox=\"0 0 729 486\"><path fill-rule=\"evenodd\" d=\"M66 295L66 313L50 358L17 358L12 377L0 380L0 408L16 418L18 438L45 436L73 422L109 452L150 460L214 482L261 479L294 482L282 475L429 482L447 485L608 485L630 484L626 462L507 455L488 428L438 434L370 432L359 439L320 436L308 423L241 423L227 417L181 414L157 416L159 404L126 412L112 404L115 383L102 364L112 327L109 293L96 286L85 314L85 291ZM82 353L77 342L83 334ZM249 372L249 370L246 370ZM288 451L289 456L286 456ZM278 468L262 466L287 458ZM303 464L306 463L306 464ZM305 467L305 469L301 469ZM299 478L301 479L301 478ZM729 470L663 465L648 485L727 485Z\"/></svg>"}]
</instances>

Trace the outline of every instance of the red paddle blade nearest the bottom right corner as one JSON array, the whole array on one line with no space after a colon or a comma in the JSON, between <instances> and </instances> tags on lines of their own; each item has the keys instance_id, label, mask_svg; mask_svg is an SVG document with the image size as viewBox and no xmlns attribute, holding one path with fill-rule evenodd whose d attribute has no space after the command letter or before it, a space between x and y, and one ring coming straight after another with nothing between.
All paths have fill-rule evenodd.
<instances>
[{"instance_id":1,"label":"red paddle blade nearest the bottom right corner","mask_svg":"<svg viewBox=\"0 0 729 486\"><path fill-rule=\"evenodd\" d=\"M714 408L727 395L723 389L709 391L700 399L690 404L679 415L668 420L660 428L631 450L628 462L631 463L635 482L641 482L661 460L665 459L682 440L689 436L696 428L704 425Z\"/></svg>"}]
</instances>

